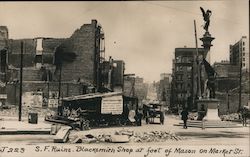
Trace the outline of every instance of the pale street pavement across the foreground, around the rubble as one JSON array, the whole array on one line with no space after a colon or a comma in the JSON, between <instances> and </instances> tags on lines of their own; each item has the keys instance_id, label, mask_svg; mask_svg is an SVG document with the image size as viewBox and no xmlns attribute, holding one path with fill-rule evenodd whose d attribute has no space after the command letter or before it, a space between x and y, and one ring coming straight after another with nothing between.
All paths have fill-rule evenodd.
<instances>
[{"instance_id":1,"label":"pale street pavement across the foreground, around the rubble","mask_svg":"<svg viewBox=\"0 0 250 157\"><path fill-rule=\"evenodd\" d=\"M45 122L42 117L39 117L38 124L28 123L28 119L23 118L23 121L19 122L17 117L1 117L0 121L1 129L44 129L50 128L52 123ZM129 130L135 133L144 133L151 131L163 131L170 132L177 136L182 137L182 140L173 141L167 140L164 142L153 142L152 144L164 145L167 143L171 144L192 144L192 145L206 145L206 144L216 144L216 145L249 145L249 126L248 127L238 127L238 128L194 128L189 127L188 129L183 129L182 126L175 126L174 124L179 124L181 122L180 117L174 115L165 116L164 125L160 124L146 124L144 121L142 126L123 126L123 127L106 127L106 128L96 128L86 131L71 131L70 137L73 136L84 136L87 134L92 134L98 136L100 134L114 134L119 130ZM241 125L241 124L239 124ZM0 135L1 143L53 143L53 135ZM136 144L133 142L127 143ZM140 143L148 144L148 143Z\"/></svg>"}]
</instances>

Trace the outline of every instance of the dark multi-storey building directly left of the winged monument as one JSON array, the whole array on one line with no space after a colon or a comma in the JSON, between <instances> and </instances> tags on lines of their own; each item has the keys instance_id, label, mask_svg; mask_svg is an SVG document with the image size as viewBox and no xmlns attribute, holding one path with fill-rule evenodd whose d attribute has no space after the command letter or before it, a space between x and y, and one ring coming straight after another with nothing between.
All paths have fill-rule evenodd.
<instances>
[{"instance_id":1,"label":"dark multi-storey building directly left of the winged monument","mask_svg":"<svg viewBox=\"0 0 250 157\"><path fill-rule=\"evenodd\" d=\"M198 53L206 56L203 48ZM196 109L194 99L197 94L197 68L194 62L196 48L176 48L173 60L171 84L171 108L185 107Z\"/></svg>"}]
</instances>

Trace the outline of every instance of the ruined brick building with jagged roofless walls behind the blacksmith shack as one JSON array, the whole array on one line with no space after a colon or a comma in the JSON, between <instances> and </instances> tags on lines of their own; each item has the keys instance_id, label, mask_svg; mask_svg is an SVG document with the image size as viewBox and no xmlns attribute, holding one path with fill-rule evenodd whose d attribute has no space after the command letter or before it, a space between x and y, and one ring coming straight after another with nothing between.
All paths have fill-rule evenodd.
<instances>
[{"instance_id":1,"label":"ruined brick building with jagged roofless walls behind the blacksmith shack","mask_svg":"<svg viewBox=\"0 0 250 157\"><path fill-rule=\"evenodd\" d=\"M96 20L84 24L69 38L9 39L7 27L0 26L0 30L3 104L19 104L21 42L23 97L37 95L44 107L56 107L59 96L122 90L122 84L114 78L123 79L124 64L117 72L115 60L110 57L105 61L104 32Z\"/></svg>"}]
</instances>

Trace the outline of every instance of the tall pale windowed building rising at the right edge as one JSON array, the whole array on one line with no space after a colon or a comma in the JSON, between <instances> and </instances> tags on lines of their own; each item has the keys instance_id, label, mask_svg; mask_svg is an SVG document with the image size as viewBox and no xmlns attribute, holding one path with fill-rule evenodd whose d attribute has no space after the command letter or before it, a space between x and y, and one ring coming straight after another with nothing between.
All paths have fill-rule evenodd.
<instances>
[{"instance_id":1,"label":"tall pale windowed building rising at the right edge","mask_svg":"<svg viewBox=\"0 0 250 157\"><path fill-rule=\"evenodd\" d=\"M230 63L240 65L240 62L242 62L242 69L249 71L249 39L246 36L230 45Z\"/></svg>"}]
</instances>

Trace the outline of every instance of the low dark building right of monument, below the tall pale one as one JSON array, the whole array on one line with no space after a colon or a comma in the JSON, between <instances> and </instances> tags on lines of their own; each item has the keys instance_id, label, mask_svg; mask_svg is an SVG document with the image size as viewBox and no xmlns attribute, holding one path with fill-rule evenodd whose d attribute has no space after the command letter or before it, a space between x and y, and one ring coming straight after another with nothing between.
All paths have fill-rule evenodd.
<instances>
[{"instance_id":1,"label":"low dark building right of monument, below the tall pale one","mask_svg":"<svg viewBox=\"0 0 250 157\"><path fill-rule=\"evenodd\" d=\"M219 114L236 113L239 110L239 65L228 61L216 62L216 98L220 100ZM241 106L249 101L249 73L242 73Z\"/></svg>"}]
</instances>

